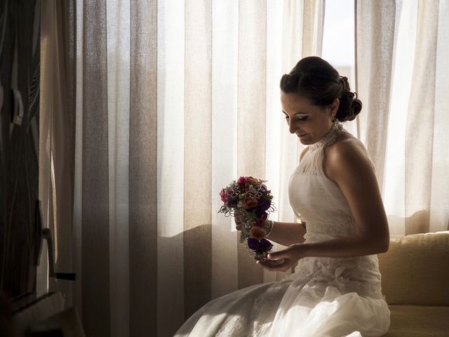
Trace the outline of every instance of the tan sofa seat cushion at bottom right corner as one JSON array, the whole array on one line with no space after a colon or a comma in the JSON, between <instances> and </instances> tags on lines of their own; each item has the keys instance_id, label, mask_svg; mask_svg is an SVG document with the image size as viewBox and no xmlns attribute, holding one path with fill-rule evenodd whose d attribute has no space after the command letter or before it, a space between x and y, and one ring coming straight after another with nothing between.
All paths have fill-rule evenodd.
<instances>
[{"instance_id":1,"label":"tan sofa seat cushion at bottom right corner","mask_svg":"<svg viewBox=\"0 0 449 337\"><path fill-rule=\"evenodd\" d=\"M391 324L384 337L447 337L449 307L389 305Z\"/></svg>"}]
</instances>

